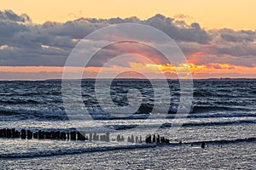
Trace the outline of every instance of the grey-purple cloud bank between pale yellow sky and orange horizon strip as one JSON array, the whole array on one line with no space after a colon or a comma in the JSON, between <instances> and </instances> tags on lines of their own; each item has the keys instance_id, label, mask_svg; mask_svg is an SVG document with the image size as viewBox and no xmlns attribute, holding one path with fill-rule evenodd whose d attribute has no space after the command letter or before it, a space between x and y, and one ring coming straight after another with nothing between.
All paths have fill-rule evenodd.
<instances>
[{"instance_id":1,"label":"grey-purple cloud bank between pale yellow sky and orange horizon strip","mask_svg":"<svg viewBox=\"0 0 256 170\"><path fill-rule=\"evenodd\" d=\"M206 54L201 63L219 60L236 65L255 64L255 31L206 31L200 24L188 25L182 19L182 16L176 20L156 14L148 20L139 20L137 17L108 20L80 18L66 23L48 21L38 25L33 24L26 14L18 15L11 10L0 11L0 65L62 66L80 39L103 26L119 23L154 26L172 37L188 58L195 57L192 54L197 52ZM111 49L106 53L108 56L112 54L119 54L119 51ZM150 56L157 59L155 54ZM220 56L230 57L224 59ZM102 65L102 61L95 59L90 64Z\"/></svg>"}]
</instances>

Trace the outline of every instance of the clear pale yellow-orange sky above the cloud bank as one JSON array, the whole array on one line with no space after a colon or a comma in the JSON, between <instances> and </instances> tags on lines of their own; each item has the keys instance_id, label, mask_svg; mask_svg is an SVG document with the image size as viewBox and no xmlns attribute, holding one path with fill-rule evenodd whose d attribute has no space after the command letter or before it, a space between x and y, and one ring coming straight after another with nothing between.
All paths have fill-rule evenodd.
<instances>
[{"instance_id":1,"label":"clear pale yellow-orange sky above the cloud bank","mask_svg":"<svg viewBox=\"0 0 256 170\"><path fill-rule=\"evenodd\" d=\"M17 14L26 13L33 22L75 20L79 17L112 18L137 16L148 19L154 14L169 17L183 14L188 21L202 27L256 29L255 0L1 0L0 9L12 9Z\"/></svg>"}]
</instances>

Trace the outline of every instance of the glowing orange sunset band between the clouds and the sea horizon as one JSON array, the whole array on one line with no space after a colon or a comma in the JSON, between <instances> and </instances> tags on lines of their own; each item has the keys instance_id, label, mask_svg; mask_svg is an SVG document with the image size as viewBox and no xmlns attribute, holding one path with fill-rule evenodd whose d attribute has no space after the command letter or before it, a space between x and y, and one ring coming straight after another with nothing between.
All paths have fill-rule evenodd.
<instances>
[{"instance_id":1,"label":"glowing orange sunset band between the clouds and the sea horizon","mask_svg":"<svg viewBox=\"0 0 256 170\"><path fill-rule=\"evenodd\" d=\"M0 66L0 79L20 79L21 75L25 75L26 79L45 79L49 78L61 78L61 74L64 67L61 66ZM73 73L84 69L84 78L96 77L97 73L101 71L101 67L91 66L86 68L79 67L68 67L68 71ZM111 67L105 68L106 77L114 74L118 71L134 70L141 73L149 73L158 78L158 75L165 74L166 77L175 78L178 74L184 75L186 78L187 73L192 73L193 78L219 78L219 77L245 77L248 75L255 77L256 65L253 67L241 66L241 65L230 65L227 63L208 63L206 65L196 65L194 63L181 63L179 65L172 64L154 64L154 63L143 63L143 62L131 62L127 66L112 65ZM15 76L17 75L17 76ZM36 75L32 77L32 75ZM138 78L138 75L127 73L125 77ZM22 78L21 78L22 79Z\"/></svg>"}]
</instances>

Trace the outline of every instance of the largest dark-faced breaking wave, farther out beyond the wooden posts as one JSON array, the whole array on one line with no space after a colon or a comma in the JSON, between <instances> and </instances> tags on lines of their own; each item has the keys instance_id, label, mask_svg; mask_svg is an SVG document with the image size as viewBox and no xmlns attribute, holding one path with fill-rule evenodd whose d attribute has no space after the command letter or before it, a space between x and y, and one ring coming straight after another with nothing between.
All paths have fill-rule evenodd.
<instances>
[{"instance_id":1,"label":"largest dark-faced breaking wave, farther out beyond the wooden posts","mask_svg":"<svg viewBox=\"0 0 256 170\"><path fill-rule=\"evenodd\" d=\"M160 113L168 110L167 107L157 108ZM207 111L229 111L232 112L207 112ZM88 110L80 111L65 111L64 109L50 109L50 110L26 110L26 109L6 109L0 108L0 120L12 120L15 116L15 120L24 120L24 119L35 119L35 120L68 120L68 116L79 116L83 117L83 114L88 113L90 117L94 120L132 120L132 119L157 119L157 118L167 118L173 119L176 117L177 108L170 108L169 114L151 114L144 112L137 112L132 114L134 111L132 108L125 106L120 107L119 109L115 108L90 108ZM67 115L68 113L68 115ZM171 114L170 114L171 113ZM85 116L85 115L84 115ZM233 111L233 108L228 107L215 107L215 106L194 106L190 111L188 118L214 118L214 117L255 117L256 113L244 112L241 109Z\"/></svg>"}]
</instances>

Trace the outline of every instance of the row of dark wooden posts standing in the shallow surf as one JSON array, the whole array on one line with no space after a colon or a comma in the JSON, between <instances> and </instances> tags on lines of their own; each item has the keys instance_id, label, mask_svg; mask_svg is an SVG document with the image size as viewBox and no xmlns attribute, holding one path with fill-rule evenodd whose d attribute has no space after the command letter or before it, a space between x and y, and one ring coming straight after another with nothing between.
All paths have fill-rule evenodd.
<instances>
[{"instance_id":1,"label":"row of dark wooden posts standing in the shallow surf","mask_svg":"<svg viewBox=\"0 0 256 170\"><path fill-rule=\"evenodd\" d=\"M15 128L1 128L0 138L10 138L10 139L62 139L62 140L89 140L89 141L110 141L109 133L97 134L97 133L83 133L76 130L71 132L61 132L60 130L30 130L30 129L15 129ZM113 141L123 142L125 141L124 136L117 135L116 139ZM130 143L142 143L142 136L128 136L127 142ZM165 137L160 137L160 135L150 135L148 134L145 138L145 143L169 143L169 139Z\"/></svg>"}]
</instances>

